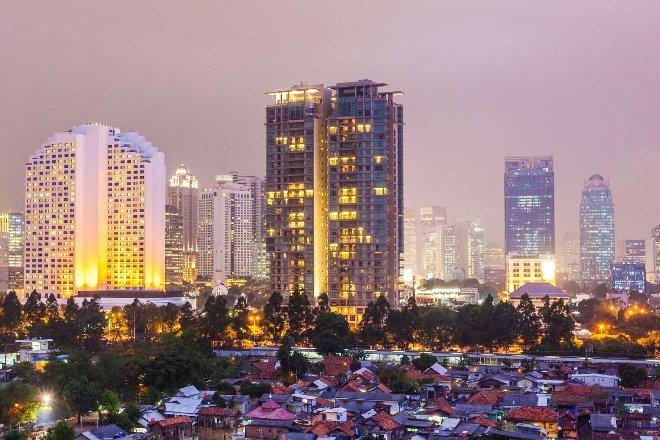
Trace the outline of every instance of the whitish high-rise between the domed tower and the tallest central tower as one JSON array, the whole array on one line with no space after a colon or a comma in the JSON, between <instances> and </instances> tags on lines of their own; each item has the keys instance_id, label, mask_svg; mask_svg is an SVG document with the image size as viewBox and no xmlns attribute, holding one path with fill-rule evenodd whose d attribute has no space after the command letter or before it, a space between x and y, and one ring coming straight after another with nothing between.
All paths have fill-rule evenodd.
<instances>
[{"instance_id":1,"label":"whitish high-rise between the domed tower and the tallest central tower","mask_svg":"<svg viewBox=\"0 0 660 440\"><path fill-rule=\"evenodd\" d=\"M199 275L225 284L255 273L252 189L219 176L199 200Z\"/></svg>"}]
</instances>

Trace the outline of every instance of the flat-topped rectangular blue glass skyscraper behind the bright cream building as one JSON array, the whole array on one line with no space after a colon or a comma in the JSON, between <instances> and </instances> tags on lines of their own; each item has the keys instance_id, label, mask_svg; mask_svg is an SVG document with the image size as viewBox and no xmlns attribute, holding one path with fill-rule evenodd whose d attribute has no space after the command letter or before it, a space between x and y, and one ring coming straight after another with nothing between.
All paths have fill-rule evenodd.
<instances>
[{"instance_id":1,"label":"flat-topped rectangular blue glass skyscraper behind the bright cream building","mask_svg":"<svg viewBox=\"0 0 660 440\"><path fill-rule=\"evenodd\" d=\"M504 173L505 253L555 254L555 173L552 156L508 157Z\"/></svg>"}]
</instances>

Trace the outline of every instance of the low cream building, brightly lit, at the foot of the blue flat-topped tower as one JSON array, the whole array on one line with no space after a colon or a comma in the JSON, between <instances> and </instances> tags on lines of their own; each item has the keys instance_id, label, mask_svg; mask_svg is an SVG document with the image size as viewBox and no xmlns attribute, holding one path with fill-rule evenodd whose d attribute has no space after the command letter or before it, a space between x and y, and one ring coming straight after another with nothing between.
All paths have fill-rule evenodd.
<instances>
[{"instance_id":1,"label":"low cream building, brightly lit, at the foot of the blue flat-topped tower","mask_svg":"<svg viewBox=\"0 0 660 440\"><path fill-rule=\"evenodd\" d=\"M527 283L556 285L556 263L553 255L537 258L507 256L506 289L514 292Z\"/></svg>"}]
</instances>

